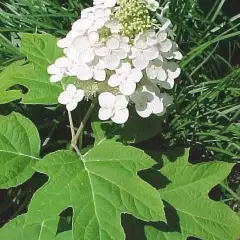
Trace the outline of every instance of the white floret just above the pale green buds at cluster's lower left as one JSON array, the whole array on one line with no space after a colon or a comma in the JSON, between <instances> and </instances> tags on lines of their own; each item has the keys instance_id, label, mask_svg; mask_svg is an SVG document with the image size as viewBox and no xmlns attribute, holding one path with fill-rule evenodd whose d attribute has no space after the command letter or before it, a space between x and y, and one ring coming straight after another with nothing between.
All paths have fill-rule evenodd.
<instances>
[{"instance_id":1,"label":"white floret just above the pale green buds at cluster's lower left","mask_svg":"<svg viewBox=\"0 0 240 240\"><path fill-rule=\"evenodd\" d=\"M79 65L77 68L77 78L82 81L95 79L104 81L106 72L101 59L95 58L92 63Z\"/></svg>"}]
</instances>

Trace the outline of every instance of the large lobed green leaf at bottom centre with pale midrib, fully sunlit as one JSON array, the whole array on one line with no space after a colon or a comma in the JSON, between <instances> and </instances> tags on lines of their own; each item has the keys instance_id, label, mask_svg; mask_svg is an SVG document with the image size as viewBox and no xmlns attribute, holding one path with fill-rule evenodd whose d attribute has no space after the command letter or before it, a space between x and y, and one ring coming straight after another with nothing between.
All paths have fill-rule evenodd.
<instances>
[{"instance_id":1,"label":"large lobed green leaf at bottom centre with pale midrib, fully sunlit","mask_svg":"<svg viewBox=\"0 0 240 240\"><path fill-rule=\"evenodd\" d=\"M123 240L121 213L164 221L159 193L137 176L153 164L143 151L113 141L95 146L82 160L69 151L49 154L36 165L49 181L33 197L27 224L73 207L74 239Z\"/></svg>"}]
</instances>

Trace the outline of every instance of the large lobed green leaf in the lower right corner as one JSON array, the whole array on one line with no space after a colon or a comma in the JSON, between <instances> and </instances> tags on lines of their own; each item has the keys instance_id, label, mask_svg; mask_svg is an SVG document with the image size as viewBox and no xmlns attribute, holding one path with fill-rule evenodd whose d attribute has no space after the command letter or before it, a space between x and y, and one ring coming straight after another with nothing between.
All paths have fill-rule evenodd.
<instances>
[{"instance_id":1,"label":"large lobed green leaf in the lower right corner","mask_svg":"<svg viewBox=\"0 0 240 240\"><path fill-rule=\"evenodd\" d=\"M228 176L232 167L233 164L224 162L192 165L186 152L160 170L167 178L167 185L159 192L162 199L177 211L182 239L194 236L207 240L236 240L240 236L237 215L224 203L208 197L208 192ZM147 229L148 239L155 240L156 234L156 231ZM164 234L163 231L159 236Z\"/></svg>"}]
</instances>

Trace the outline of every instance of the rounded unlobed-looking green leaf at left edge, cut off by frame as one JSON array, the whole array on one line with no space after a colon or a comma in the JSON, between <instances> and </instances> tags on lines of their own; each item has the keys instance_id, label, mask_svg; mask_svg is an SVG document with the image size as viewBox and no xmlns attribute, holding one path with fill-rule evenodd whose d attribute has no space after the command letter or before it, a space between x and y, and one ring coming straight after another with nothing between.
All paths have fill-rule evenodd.
<instances>
[{"instance_id":1,"label":"rounded unlobed-looking green leaf at left edge, cut off by frame","mask_svg":"<svg viewBox=\"0 0 240 240\"><path fill-rule=\"evenodd\" d=\"M0 187L14 187L29 179L39 151L39 134L30 120L18 113L0 116Z\"/></svg>"}]
</instances>

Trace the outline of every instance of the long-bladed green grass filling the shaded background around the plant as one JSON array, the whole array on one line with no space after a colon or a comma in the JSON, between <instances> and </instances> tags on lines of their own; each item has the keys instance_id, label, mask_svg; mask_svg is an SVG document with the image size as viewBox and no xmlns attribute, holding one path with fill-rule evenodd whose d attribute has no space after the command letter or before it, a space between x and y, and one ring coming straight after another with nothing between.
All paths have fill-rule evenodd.
<instances>
[{"instance_id":1,"label":"long-bladed green grass filling the shaded background around the plant","mask_svg":"<svg viewBox=\"0 0 240 240\"><path fill-rule=\"evenodd\" d=\"M1 1L0 70L23 58L18 50L18 32L64 36L71 22L88 4L90 2L84 0ZM182 75L172 90L174 105L162 132L141 146L166 150L176 146L191 147L193 162L215 159L239 163L239 0L171 0L169 14L177 42L185 55L181 61ZM43 141L49 132L53 133L51 150L66 144L69 129L61 111L10 103L0 106L0 113L6 114L13 109L23 112L37 124ZM61 129L61 136L55 133L56 129ZM62 140L56 142L54 139ZM44 181L34 176L30 183L1 191L0 224L24 211L32 193ZM238 164L224 187L218 188L214 195L235 211L240 208L239 182Z\"/></svg>"}]
</instances>

